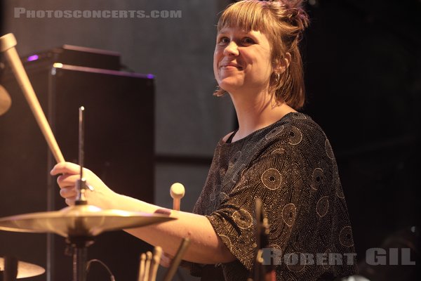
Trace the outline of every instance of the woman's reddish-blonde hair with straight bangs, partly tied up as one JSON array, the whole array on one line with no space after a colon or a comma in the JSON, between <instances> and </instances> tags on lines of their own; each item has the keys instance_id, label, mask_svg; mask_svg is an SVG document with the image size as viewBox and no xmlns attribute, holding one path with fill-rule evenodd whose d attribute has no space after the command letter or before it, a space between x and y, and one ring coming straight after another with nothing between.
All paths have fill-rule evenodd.
<instances>
[{"instance_id":1,"label":"woman's reddish-blonde hair with straight bangs, partly tied up","mask_svg":"<svg viewBox=\"0 0 421 281\"><path fill-rule=\"evenodd\" d=\"M290 53L290 64L286 70L273 72L269 81L269 92L277 102L286 103L298 110L305 102L304 74L298 43L302 31L309 24L301 1L288 0L243 0L229 5L218 20L218 32L225 27L239 27L249 32L265 34L271 45L272 63L283 62ZM215 96L223 96L225 90L218 88Z\"/></svg>"}]
</instances>

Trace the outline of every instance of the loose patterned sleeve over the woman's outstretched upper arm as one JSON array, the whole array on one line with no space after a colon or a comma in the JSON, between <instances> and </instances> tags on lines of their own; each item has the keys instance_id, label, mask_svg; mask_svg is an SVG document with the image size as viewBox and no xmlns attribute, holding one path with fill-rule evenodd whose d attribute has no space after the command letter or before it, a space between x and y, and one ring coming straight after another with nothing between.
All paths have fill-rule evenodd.
<instances>
[{"instance_id":1,"label":"loose patterned sleeve over the woman's outstretched upper arm","mask_svg":"<svg viewBox=\"0 0 421 281\"><path fill-rule=\"evenodd\" d=\"M300 153L288 143L269 145L241 172L239 181L208 219L222 242L251 270L257 251L255 200L262 200L271 233L269 243L283 249L300 209L303 181Z\"/></svg>"}]
</instances>

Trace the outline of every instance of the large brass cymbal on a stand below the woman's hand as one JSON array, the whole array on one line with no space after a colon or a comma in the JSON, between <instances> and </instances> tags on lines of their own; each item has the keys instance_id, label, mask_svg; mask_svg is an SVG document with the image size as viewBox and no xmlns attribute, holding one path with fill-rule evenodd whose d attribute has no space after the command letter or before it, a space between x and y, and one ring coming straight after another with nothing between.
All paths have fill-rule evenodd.
<instances>
[{"instance_id":1,"label":"large brass cymbal on a stand below the woman's hand","mask_svg":"<svg viewBox=\"0 0 421 281\"><path fill-rule=\"evenodd\" d=\"M100 209L93 205L66 207L0 218L0 230L22 233L55 233L63 237L96 236L105 231L148 226L171 221L163 214L148 214L117 209Z\"/></svg>"}]
</instances>

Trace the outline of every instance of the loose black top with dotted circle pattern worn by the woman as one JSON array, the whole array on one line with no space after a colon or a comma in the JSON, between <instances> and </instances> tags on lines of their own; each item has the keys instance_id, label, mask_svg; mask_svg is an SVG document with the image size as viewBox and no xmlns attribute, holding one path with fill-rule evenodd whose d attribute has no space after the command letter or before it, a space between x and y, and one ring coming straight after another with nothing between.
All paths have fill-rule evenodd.
<instances>
[{"instance_id":1,"label":"loose black top with dotted circle pattern worn by the woman","mask_svg":"<svg viewBox=\"0 0 421 281\"><path fill-rule=\"evenodd\" d=\"M267 213L272 253L280 257L276 280L332 280L356 272L333 150L319 125L293 112L239 141L218 143L194 213L208 217L237 260L194 264L192 275L246 280L257 251L256 198ZM209 277L221 270L223 277Z\"/></svg>"}]
</instances>

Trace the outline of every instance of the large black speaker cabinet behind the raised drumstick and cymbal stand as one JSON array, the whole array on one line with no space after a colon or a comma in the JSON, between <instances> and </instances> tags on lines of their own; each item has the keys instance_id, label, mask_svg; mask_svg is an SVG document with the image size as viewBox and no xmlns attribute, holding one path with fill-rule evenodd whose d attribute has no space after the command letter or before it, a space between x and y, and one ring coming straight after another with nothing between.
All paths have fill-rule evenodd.
<instances>
[{"instance_id":1,"label":"large black speaker cabinet behind the raised drumstick and cymbal stand","mask_svg":"<svg viewBox=\"0 0 421 281\"><path fill-rule=\"evenodd\" d=\"M154 77L57 63L25 68L65 159L77 162L83 105L86 167L116 192L153 202ZM0 216L66 207L49 175L55 160L15 77L4 74L1 84L12 107L0 116ZM54 234L0 231L0 256L46 268L31 280L72 280L65 245L65 238ZM138 256L149 248L122 230L103 233L88 248L88 259L106 263L116 280L136 280ZM88 280L108 280L107 271L92 263Z\"/></svg>"}]
</instances>

